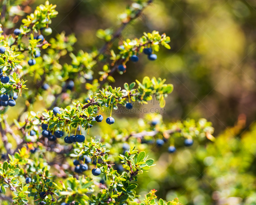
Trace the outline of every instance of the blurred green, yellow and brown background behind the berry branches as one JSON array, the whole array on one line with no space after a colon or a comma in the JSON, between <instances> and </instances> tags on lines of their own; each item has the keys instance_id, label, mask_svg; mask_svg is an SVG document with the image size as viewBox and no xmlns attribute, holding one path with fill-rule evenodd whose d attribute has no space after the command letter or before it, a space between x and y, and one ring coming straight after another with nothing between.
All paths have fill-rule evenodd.
<instances>
[{"instance_id":1,"label":"blurred green, yellow and brown background behind the berry branches","mask_svg":"<svg viewBox=\"0 0 256 205\"><path fill-rule=\"evenodd\" d=\"M37 0L31 8L41 3ZM62 31L75 33L75 51L88 52L104 44L96 37L97 30L116 30L118 14L131 4L123 0L51 3L57 4L59 12L52 20L52 36ZM137 191L141 195L155 188L159 197L179 197L183 204L256 204L255 19L253 0L154 0L114 42L117 51L123 39L140 37L143 32L158 30L170 36L170 50L161 48L155 62L145 55L136 64L128 62L126 73L121 77L116 73L111 85L123 86L144 76L166 78L174 91L166 99L164 121L206 118L212 121L217 138L215 143L195 142L189 149L179 148L173 155L166 152L167 144L161 149L141 144L140 150L151 146L147 154L156 159L156 166L140 176ZM100 70L95 67L95 77ZM144 117L119 117L127 116ZM104 132L112 129L96 134Z\"/></svg>"}]
</instances>

